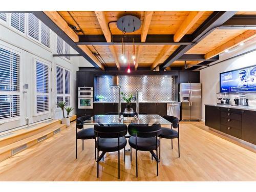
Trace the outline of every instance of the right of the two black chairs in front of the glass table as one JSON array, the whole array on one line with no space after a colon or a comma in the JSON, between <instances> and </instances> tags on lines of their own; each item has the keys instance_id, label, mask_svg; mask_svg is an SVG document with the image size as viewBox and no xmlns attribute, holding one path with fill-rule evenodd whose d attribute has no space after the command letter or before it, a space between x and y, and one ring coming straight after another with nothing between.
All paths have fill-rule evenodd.
<instances>
[{"instance_id":1,"label":"right of the two black chairs in front of the glass table","mask_svg":"<svg viewBox=\"0 0 256 192\"><path fill-rule=\"evenodd\" d=\"M158 147L159 140L158 136L161 131L160 124L153 124L151 126L142 124L129 124L128 132L131 135L129 138L129 144L131 146L131 159L132 159L132 148L136 150L136 177L138 177L138 151L150 152L157 162L157 176L158 176ZM154 153L156 151L156 154Z\"/></svg>"}]
</instances>

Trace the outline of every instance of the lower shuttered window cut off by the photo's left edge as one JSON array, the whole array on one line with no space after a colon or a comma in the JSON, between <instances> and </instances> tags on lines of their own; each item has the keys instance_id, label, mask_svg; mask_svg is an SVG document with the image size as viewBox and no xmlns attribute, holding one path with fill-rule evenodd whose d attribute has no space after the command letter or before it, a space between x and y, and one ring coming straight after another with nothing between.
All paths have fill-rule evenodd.
<instances>
[{"instance_id":1,"label":"lower shuttered window cut off by the photo's left edge","mask_svg":"<svg viewBox=\"0 0 256 192\"><path fill-rule=\"evenodd\" d=\"M0 47L0 121L20 115L20 55Z\"/></svg>"}]
</instances>

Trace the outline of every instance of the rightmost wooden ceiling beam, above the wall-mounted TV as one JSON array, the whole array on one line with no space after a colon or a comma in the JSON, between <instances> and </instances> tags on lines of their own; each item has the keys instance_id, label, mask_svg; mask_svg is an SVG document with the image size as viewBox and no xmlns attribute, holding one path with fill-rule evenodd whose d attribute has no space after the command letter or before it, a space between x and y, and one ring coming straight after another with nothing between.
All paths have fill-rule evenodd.
<instances>
[{"instance_id":1,"label":"rightmost wooden ceiling beam, above the wall-mounted TV","mask_svg":"<svg viewBox=\"0 0 256 192\"><path fill-rule=\"evenodd\" d=\"M214 50L211 50L210 52L206 53L204 55L204 58L209 59L211 57L219 55L220 53L224 52L226 49L231 49L233 47L236 47L242 42L247 41L255 36L256 36L256 30L247 30L244 33L238 35L237 37L234 37L231 40L225 42L225 44L222 44L221 46L215 48Z\"/></svg>"}]
</instances>

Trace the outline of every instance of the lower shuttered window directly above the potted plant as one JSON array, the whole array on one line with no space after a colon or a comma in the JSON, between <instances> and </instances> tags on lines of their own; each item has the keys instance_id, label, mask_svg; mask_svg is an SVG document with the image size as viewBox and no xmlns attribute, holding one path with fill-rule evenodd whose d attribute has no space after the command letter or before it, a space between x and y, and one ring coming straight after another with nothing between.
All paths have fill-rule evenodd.
<instances>
[{"instance_id":1,"label":"lower shuttered window directly above the potted plant","mask_svg":"<svg viewBox=\"0 0 256 192\"><path fill-rule=\"evenodd\" d=\"M56 66L57 103L66 102L70 106L70 70Z\"/></svg>"}]
</instances>

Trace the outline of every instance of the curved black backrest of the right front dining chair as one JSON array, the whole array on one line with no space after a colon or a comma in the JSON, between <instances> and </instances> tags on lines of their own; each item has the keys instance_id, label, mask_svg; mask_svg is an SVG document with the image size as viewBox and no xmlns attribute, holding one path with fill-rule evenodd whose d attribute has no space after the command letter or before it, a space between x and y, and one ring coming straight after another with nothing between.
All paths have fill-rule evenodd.
<instances>
[{"instance_id":1,"label":"curved black backrest of the right front dining chair","mask_svg":"<svg viewBox=\"0 0 256 192\"><path fill-rule=\"evenodd\" d=\"M129 124L128 133L137 137L156 137L160 134L161 125Z\"/></svg>"}]
</instances>

